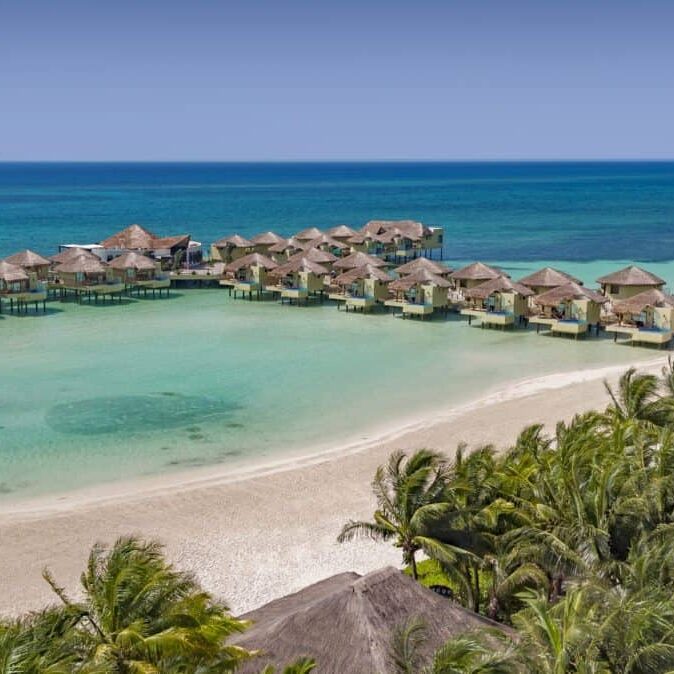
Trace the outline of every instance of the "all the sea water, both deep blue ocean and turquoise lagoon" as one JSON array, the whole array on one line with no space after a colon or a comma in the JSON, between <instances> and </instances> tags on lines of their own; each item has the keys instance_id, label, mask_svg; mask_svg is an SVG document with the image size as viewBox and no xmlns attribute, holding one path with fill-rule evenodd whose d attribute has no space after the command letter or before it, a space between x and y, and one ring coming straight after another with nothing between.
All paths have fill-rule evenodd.
<instances>
[{"instance_id":1,"label":"all the sea water, both deep blue ocean and turquoise lagoon","mask_svg":"<svg viewBox=\"0 0 674 674\"><path fill-rule=\"evenodd\" d=\"M482 259L517 278L553 261L591 284L635 260L674 284L671 162L0 163L0 257L98 241L131 222L209 243L372 218L443 225L453 266ZM217 290L49 308L0 316L5 501L319 451L523 374L652 355Z\"/></svg>"}]
</instances>

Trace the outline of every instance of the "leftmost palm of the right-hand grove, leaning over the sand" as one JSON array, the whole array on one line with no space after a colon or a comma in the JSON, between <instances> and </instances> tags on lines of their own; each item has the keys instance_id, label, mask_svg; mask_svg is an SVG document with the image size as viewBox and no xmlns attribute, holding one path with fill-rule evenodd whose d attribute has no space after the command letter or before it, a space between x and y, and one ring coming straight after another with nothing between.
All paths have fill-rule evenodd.
<instances>
[{"instance_id":1,"label":"leftmost palm of the right-hand grove, leaning over the sand","mask_svg":"<svg viewBox=\"0 0 674 674\"><path fill-rule=\"evenodd\" d=\"M429 523L447 515L447 465L436 452L420 449L407 457L394 452L386 465L379 466L372 482L377 499L373 521L350 521L337 540L341 543L357 536L393 540L401 548L403 562L417 579L416 553L450 562L465 551L441 543L428 535Z\"/></svg>"}]
</instances>

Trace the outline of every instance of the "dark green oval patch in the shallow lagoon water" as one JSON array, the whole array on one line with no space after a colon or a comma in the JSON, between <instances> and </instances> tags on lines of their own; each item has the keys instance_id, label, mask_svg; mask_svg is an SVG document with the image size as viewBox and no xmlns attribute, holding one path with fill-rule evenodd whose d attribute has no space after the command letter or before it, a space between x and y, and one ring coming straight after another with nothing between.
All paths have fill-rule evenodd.
<instances>
[{"instance_id":1,"label":"dark green oval patch in the shallow lagoon water","mask_svg":"<svg viewBox=\"0 0 674 674\"><path fill-rule=\"evenodd\" d=\"M46 422L59 433L104 433L163 430L195 422L226 420L240 405L209 396L180 393L89 398L49 408Z\"/></svg>"}]
</instances>

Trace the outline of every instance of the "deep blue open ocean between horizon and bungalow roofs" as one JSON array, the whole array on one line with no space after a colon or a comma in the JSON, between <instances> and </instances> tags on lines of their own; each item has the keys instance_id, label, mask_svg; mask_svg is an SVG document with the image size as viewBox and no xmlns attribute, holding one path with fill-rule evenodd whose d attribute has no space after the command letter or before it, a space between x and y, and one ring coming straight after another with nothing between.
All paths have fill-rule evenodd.
<instances>
[{"instance_id":1,"label":"deep blue open ocean between horizon and bungalow roofs","mask_svg":"<svg viewBox=\"0 0 674 674\"><path fill-rule=\"evenodd\" d=\"M447 259L672 260L674 162L0 164L0 257L375 218L444 226Z\"/></svg>"}]
</instances>

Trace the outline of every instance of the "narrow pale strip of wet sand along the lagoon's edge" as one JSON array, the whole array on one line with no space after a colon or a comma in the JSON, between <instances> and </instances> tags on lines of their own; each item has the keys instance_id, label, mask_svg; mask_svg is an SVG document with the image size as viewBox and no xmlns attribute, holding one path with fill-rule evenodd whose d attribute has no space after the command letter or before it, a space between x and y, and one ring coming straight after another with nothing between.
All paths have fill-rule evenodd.
<instances>
[{"instance_id":1,"label":"narrow pale strip of wet sand along the lagoon's edge","mask_svg":"<svg viewBox=\"0 0 674 674\"><path fill-rule=\"evenodd\" d=\"M188 491L204 487L233 484L257 477L284 473L307 466L350 456L395 438L414 433L427 426L448 423L479 407L526 398L549 390L564 388L570 384L596 381L621 374L629 367L649 369L662 367L663 356L638 359L627 364L607 365L589 370L572 370L527 377L505 386L494 386L483 395L459 405L441 405L423 416L412 415L398 423L381 423L359 433L360 439L341 439L326 444L318 451L304 448L284 452L279 458L247 457L227 463L214 463L199 468L151 476L134 477L123 481L94 484L66 492L53 492L39 496L11 498L0 502L0 522L6 518L42 517L59 512L119 501L134 501L161 495L168 491Z\"/></svg>"}]
</instances>

